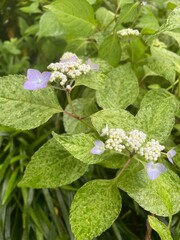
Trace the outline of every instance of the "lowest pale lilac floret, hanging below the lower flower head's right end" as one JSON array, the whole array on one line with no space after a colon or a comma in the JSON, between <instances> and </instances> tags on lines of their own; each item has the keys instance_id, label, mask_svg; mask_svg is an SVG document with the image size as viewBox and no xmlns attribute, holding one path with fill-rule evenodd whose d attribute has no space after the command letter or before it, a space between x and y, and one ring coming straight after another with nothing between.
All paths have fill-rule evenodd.
<instances>
[{"instance_id":1,"label":"lowest pale lilac floret, hanging below the lower flower head's right end","mask_svg":"<svg viewBox=\"0 0 180 240\"><path fill-rule=\"evenodd\" d=\"M146 170L149 178L155 180L161 173L165 172L167 169L161 163L148 162L146 164Z\"/></svg>"}]
</instances>

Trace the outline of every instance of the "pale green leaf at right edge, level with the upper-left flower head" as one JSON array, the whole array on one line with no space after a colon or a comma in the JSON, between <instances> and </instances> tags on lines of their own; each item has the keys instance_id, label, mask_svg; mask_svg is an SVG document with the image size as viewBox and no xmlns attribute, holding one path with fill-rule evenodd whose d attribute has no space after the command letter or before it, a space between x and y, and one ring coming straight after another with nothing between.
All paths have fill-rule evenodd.
<instances>
[{"instance_id":1,"label":"pale green leaf at right edge, level with the upper-left flower head","mask_svg":"<svg viewBox=\"0 0 180 240\"><path fill-rule=\"evenodd\" d=\"M180 57L160 47L151 47L151 54L152 57L148 59L148 68L156 75L164 77L173 84L176 78L176 71L180 71Z\"/></svg>"}]
</instances>

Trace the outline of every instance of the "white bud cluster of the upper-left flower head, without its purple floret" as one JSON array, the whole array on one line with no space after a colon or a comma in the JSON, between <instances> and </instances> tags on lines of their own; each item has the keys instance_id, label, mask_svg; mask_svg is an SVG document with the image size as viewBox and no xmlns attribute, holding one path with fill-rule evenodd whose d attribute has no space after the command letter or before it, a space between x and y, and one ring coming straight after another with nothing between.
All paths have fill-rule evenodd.
<instances>
[{"instance_id":1,"label":"white bud cluster of the upper-left flower head, without its purple floret","mask_svg":"<svg viewBox=\"0 0 180 240\"><path fill-rule=\"evenodd\" d=\"M52 71L50 82L59 81L62 87L71 89L72 80L87 74L91 70L91 64L89 62L87 64L82 63L82 60L76 54L66 52L59 62L51 63L47 68Z\"/></svg>"}]
</instances>

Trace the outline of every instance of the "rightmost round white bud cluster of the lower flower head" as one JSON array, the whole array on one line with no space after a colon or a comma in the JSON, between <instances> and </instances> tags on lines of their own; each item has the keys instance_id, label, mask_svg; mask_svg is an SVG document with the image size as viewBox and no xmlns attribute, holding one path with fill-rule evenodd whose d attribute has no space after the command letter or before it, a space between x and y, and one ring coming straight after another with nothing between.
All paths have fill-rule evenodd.
<instances>
[{"instance_id":1,"label":"rightmost round white bud cluster of the lower flower head","mask_svg":"<svg viewBox=\"0 0 180 240\"><path fill-rule=\"evenodd\" d=\"M139 155L144 156L146 160L157 161L161 156L161 151L163 151L165 147L160 145L158 141L152 139L147 142L145 147L141 147L139 149Z\"/></svg>"}]
</instances>

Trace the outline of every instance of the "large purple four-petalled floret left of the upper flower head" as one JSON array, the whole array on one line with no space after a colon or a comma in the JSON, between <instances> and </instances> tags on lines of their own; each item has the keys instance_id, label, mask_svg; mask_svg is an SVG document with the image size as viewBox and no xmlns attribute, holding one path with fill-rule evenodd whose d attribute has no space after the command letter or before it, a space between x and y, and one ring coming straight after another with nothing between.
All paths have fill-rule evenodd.
<instances>
[{"instance_id":1,"label":"large purple four-petalled floret left of the upper flower head","mask_svg":"<svg viewBox=\"0 0 180 240\"><path fill-rule=\"evenodd\" d=\"M50 76L50 72L41 73L36 69L28 69L27 81L24 83L24 88L26 90L37 90L40 88L45 88L48 84Z\"/></svg>"}]
</instances>

